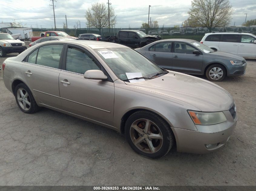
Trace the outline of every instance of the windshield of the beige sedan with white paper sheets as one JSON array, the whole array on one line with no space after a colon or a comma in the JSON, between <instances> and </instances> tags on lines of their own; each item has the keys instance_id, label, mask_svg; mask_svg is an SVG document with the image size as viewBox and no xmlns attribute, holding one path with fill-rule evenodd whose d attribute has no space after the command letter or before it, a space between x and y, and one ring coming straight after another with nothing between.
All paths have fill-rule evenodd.
<instances>
[{"instance_id":1,"label":"windshield of the beige sedan with white paper sheets","mask_svg":"<svg viewBox=\"0 0 256 191\"><path fill-rule=\"evenodd\" d=\"M95 52L121 80L130 79L130 76L151 78L157 73L165 72L130 48L95 49Z\"/></svg>"}]
</instances>

